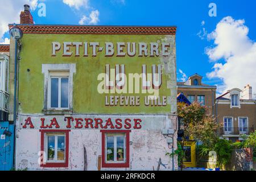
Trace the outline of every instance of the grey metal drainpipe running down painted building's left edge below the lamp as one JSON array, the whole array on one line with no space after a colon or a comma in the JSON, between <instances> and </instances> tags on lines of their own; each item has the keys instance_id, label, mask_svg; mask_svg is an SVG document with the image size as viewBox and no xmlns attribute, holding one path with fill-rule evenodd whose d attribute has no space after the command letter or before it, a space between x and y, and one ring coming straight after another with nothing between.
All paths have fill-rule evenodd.
<instances>
[{"instance_id":1,"label":"grey metal drainpipe running down painted building's left edge below the lamp","mask_svg":"<svg viewBox=\"0 0 256 182\"><path fill-rule=\"evenodd\" d=\"M13 152L13 166L15 167L15 143L16 143L16 87L17 87L17 68L18 68L18 41L15 40L15 57L14 57L14 109L13 109L13 123L14 123L14 152Z\"/></svg>"}]
</instances>

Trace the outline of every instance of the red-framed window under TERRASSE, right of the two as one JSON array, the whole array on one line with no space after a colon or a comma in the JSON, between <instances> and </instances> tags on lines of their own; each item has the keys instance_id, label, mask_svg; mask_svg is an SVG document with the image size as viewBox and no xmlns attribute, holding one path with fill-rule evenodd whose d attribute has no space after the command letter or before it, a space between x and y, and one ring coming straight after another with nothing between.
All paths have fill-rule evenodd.
<instances>
[{"instance_id":1,"label":"red-framed window under TERRASSE, right of the two","mask_svg":"<svg viewBox=\"0 0 256 182\"><path fill-rule=\"evenodd\" d=\"M129 132L102 130L102 167L129 167Z\"/></svg>"}]
</instances>

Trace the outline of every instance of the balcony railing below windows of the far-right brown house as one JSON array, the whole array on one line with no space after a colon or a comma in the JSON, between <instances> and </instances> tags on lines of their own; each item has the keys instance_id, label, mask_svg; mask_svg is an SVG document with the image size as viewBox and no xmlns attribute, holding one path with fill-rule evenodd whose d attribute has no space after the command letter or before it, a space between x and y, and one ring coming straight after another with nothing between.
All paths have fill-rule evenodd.
<instances>
[{"instance_id":1,"label":"balcony railing below windows of the far-right brown house","mask_svg":"<svg viewBox=\"0 0 256 182\"><path fill-rule=\"evenodd\" d=\"M254 127L222 127L220 135L248 135L254 132Z\"/></svg>"}]
</instances>

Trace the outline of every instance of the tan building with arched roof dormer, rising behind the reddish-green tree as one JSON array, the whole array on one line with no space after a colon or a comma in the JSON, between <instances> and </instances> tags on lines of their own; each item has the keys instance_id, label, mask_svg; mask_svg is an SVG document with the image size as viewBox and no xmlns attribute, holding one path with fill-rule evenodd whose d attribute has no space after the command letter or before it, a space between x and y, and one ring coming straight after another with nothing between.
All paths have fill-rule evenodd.
<instances>
[{"instance_id":1,"label":"tan building with arched roof dormer, rising behind the reddish-green tree","mask_svg":"<svg viewBox=\"0 0 256 182\"><path fill-rule=\"evenodd\" d=\"M214 101L216 98L216 86L203 84L202 76L192 75L185 82L177 82L177 93L183 93L189 102L199 102L207 106L209 114L214 115Z\"/></svg>"}]
</instances>

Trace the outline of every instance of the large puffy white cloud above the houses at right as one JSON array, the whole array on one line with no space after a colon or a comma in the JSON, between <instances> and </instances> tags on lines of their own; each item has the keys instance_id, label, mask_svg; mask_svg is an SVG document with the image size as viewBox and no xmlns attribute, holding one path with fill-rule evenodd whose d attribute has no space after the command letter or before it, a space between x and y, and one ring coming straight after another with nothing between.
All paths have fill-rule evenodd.
<instances>
[{"instance_id":1,"label":"large puffy white cloud above the houses at right","mask_svg":"<svg viewBox=\"0 0 256 182\"><path fill-rule=\"evenodd\" d=\"M216 63L207 77L220 78L221 90L242 89L247 84L256 88L256 43L248 37L248 32L245 20L227 16L208 35L214 40L214 47L207 48L206 53Z\"/></svg>"}]
</instances>

